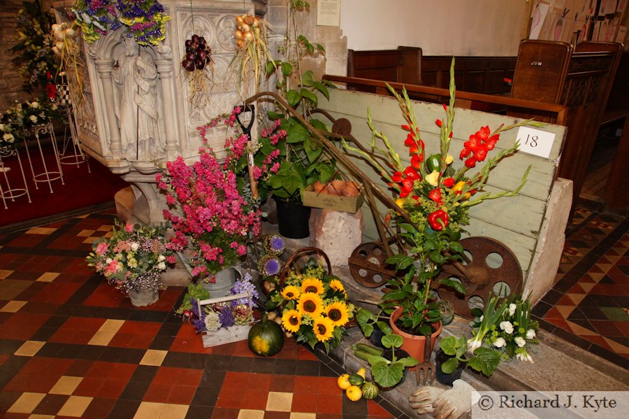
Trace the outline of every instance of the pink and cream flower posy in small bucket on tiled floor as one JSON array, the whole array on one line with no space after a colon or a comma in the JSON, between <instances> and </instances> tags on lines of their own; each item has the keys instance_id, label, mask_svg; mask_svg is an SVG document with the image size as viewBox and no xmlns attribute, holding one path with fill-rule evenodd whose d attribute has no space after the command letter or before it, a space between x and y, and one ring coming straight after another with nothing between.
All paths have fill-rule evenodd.
<instances>
[{"instance_id":1,"label":"pink and cream flower posy in small bucket on tiled floor","mask_svg":"<svg viewBox=\"0 0 629 419\"><path fill-rule=\"evenodd\" d=\"M111 236L92 243L86 260L110 285L124 292L158 290L175 256L164 246L165 227L115 222Z\"/></svg>"}]
</instances>

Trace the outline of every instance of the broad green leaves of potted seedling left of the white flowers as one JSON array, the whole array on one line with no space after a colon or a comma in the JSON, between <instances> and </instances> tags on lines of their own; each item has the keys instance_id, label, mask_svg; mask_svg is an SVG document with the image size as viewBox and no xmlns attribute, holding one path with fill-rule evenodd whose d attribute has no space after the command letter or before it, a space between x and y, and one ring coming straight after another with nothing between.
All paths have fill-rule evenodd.
<instances>
[{"instance_id":1,"label":"broad green leaves of potted seedling left of the white flowers","mask_svg":"<svg viewBox=\"0 0 629 419\"><path fill-rule=\"evenodd\" d=\"M461 362L465 362L470 368L489 377L500 364L500 352L483 346L476 348L471 356L466 355L468 341L465 336L447 336L441 339L440 348L446 355L451 356L449 360L441 364L441 371L444 374L451 374Z\"/></svg>"}]
</instances>

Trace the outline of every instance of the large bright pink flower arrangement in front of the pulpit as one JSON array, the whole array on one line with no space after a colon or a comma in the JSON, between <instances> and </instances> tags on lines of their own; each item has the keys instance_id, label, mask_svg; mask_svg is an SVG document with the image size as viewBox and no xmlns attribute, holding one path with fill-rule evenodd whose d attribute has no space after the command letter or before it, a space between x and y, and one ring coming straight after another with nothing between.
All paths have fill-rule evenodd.
<instances>
[{"instance_id":1,"label":"large bright pink flower arrangement in front of the pulpit","mask_svg":"<svg viewBox=\"0 0 629 419\"><path fill-rule=\"evenodd\" d=\"M205 147L199 149L198 162L188 166L181 157L166 163L157 174L157 186L166 194L164 211L175 234L166 246L172 250L192 250L192 274L213 282L213 275L231 267L247 253L245 241L260 233L259 199L251 197L246 178L247 155L257 151L245 134L236 133L225 141L226 159L219 162L205 138L210 129L223 121L234 127L240 108L198 128ZM266 131L271 136L276 135ZM277 134L279 135L279 134ZM276 153L279 155L279 151ZM257 180L273 168L273 157L254 168Z\"/></svg>"}]
</instances>

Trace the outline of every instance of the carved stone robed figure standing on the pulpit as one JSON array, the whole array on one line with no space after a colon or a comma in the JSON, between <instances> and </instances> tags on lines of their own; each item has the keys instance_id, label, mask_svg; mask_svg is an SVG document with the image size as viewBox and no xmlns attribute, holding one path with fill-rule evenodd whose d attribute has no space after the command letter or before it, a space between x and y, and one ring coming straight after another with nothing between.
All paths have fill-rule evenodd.
<instances>
[{"instance_id":1,"label":"carved stone robed figure standing on the pulpit","mask_svg":"<svg viewBox=\"0 0 629 419\"><path fill-rule=\"evenodd\" d=\"M148 53L140 54L133 38L124 39L124 52L112 76L121 86L116 116L123 155L129 160L149 160L163 155L157 112L157 67Z\"/></svg>"}]
</instances>

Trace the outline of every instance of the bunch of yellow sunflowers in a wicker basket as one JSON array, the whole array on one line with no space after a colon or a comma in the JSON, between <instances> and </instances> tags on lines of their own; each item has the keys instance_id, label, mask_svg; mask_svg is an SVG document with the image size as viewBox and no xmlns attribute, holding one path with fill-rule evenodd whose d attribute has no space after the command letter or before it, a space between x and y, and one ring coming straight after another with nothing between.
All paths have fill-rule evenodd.
<instances>
[{"instance_id":1,"label":"bunch of yellow sunflowers in a wicker basket","mask_svg":"<svg viewBox=\"0 0 629 419\"><path fill-rule=\"evenodd\" d=\"M280 308L286 332L313 349L322 343L326 353L338 346L345 325L354 318L354 304L347 300L343 283L326 274L314 258L301 271L290 270L284 283L270 294L269 302Z\"/></svg>"}]
</instances>

